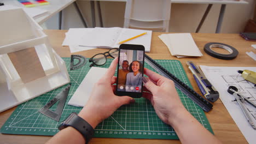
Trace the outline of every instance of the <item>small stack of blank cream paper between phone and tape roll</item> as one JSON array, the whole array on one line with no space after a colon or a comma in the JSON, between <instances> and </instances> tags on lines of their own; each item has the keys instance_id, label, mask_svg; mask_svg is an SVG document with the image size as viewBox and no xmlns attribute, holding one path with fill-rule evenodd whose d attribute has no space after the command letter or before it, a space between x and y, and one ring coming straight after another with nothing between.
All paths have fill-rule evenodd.
<instances>
[{"instance_id":1,"label":"small stack of blank cream paper between phone and tape roll","mask_svg":"<svg viewBox=\"0 0 256 144\"><path fill-rule=\"evenodd\" d=\"M177 56L178 58L202 56L190 33L161 34L158 37L168 47L172 56Z\"/></svg>"}]
</instances>

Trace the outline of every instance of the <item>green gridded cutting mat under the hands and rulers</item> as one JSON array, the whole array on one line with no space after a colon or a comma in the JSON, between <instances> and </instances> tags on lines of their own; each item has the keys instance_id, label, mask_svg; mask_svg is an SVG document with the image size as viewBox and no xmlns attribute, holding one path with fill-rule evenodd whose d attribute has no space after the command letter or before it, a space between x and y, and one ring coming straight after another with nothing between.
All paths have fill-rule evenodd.
<instances>
[{"instance_id":1,"label":"green gridded cutting mat under the hands and rulers","mask_svg":"<svg viewBox=\"0 0 256 144\"><path fill-rule=\"evenodd\" d=\"M85 75L88 73L90 63L87 62L83 68L69 71L70 58L63 59L66 62L69 77L72 82L72 86L66 101L67 103L69 99L71 99L75 90L78 88L79 84L83 81ZM112 60L113 59L108 59L108 62L103 67L108 68ZM169 70L173 75L177 76L180 80L191 87L181 62L176 60L156 60L156 62L161 64L162 67ZM153 70L147 63L145 63L145 67ZM22 135L55 135L59 131L57 127L60 122L66 119L66 117L72 112L79 113L82 108L65 105L60 122L56 122L53 119L40 114L38 110L53 99L56 94L60 93L66 86L57 88L54 91L45 93L19 105L1 128L1 133ZM186 109L206 129L213 133L203 110L181 91L178 89L177 91ZM54 106L51 109L55 110L56 106ZM113 113L112 116L105 119L96 127L94 137L178 139L178 136L173 128L163 123L158 118L153 106L150 104L150 101L144 98L136 99L135 104L121 106Z\"/></svg>"}]
</instances>

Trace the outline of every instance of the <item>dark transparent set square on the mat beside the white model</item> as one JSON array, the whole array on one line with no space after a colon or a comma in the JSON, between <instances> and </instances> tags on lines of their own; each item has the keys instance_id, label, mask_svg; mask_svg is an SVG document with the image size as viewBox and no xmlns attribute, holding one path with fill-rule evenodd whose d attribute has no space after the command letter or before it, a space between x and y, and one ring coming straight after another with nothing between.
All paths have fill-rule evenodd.
<instances>
[{"instance_id":1,"label":"dark transparent set square on the mat beside the white model","mask_svg":"<svg viewBox=\"0 0 256 144\"><path fill-rule=\"evenodd\" d=\"M66 99L67 99L70 87L71 87L71 83L69 83L69 85L65 89L62 90L62 92L57 94L54 99L52 99L49 103L47 103L38 112L40 112L43 115L48 116L49 118L52 118L55 121L59 122L62 111L63 111L63 108L64 108L65 103L66 103ZM49 110L51 106L53 106L55 103L57 103L57 101L59 101L59 104L57 104L57 107L56 107L55 111Z\"/></svg>"}]
</instances>

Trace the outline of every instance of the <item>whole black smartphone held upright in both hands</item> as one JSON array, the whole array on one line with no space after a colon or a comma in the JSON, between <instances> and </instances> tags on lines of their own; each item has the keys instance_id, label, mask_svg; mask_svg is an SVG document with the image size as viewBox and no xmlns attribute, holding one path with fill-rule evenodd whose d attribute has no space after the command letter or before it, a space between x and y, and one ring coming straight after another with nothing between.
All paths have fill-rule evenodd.
<instances>
[{"instance_id":1,"label":"whole black smartphone held upright in both hands","mask_svg":"<svg viewBox=\"0 0 256 144\"><path fill-rule=\"evenodd\" d=\"M142 97L144 54L143 45L121 44L119 46L117 95Z\"/></svg>"}]
</instances>

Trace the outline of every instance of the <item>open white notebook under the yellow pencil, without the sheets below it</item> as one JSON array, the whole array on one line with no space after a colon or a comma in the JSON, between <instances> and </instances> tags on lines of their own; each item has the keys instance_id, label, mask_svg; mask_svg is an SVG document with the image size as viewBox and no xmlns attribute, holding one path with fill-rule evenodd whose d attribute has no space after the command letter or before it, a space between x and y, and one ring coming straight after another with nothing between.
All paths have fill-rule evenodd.
<instances>
[{"instance_id":1,"label":"open white notebook under the yellow pencil, without the sheets below it","mask_svg":"<svg viewBox=\"0 0 256 144\"><path fill-rule=\"evenodd\" d=\"M139 34L147 32L141 37L126 41L124 44L143 45L146 52L150 52L152 31L131 29L131 28L100 28L96 27L93 31L85 33L80 40L79 46L97 46L99 48L119 47L120 41L135 37Z\"/></svg>"}]
</instances>

